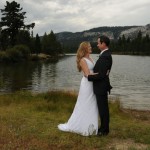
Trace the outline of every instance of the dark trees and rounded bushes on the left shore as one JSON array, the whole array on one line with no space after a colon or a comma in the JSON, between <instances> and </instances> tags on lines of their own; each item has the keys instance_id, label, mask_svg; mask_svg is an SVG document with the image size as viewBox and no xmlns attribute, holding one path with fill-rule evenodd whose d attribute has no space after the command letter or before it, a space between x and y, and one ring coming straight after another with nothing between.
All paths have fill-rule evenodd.
<instances>
[{"instance_id":1,"label":"dark trees and rounded bushes on the left shore","mask_svg":"<svg viewBox=\"0 0 150 150\"><path fill-rule=\"evenodd\" d=\"M26 12L22 12L19 3L6 1L6 6L0 10L0 62L28 59L31 54L44 53L55 57L63 53L53 31L45 33L42 38L38 34L33 37L35 23L24 23Z\"/></svg>"}]
</instances>

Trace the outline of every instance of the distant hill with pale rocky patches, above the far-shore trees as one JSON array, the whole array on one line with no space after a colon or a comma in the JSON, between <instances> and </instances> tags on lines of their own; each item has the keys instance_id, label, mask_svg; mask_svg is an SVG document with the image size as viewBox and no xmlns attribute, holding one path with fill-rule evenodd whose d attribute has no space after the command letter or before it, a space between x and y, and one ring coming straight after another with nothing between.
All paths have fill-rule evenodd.
<instances>
[{"instance_id":1,"label":"distant hill with pale rocky patches, above the far-shore trees","mask_svg":"<svg viewBox=\"0 0 150 150\"><path fill-rule=\"evenodd\" d=\"M98 27L82 32L60 32L55 34L57 39L66 47L75 47L82 41L96 42L100 35L107 35L111 40L117 40L124 34L125 37L135 38L138 32L142 32L142 36L148 34L150 36L150 24L146 26L113 26Z\"/></svg>"}]
</instances>

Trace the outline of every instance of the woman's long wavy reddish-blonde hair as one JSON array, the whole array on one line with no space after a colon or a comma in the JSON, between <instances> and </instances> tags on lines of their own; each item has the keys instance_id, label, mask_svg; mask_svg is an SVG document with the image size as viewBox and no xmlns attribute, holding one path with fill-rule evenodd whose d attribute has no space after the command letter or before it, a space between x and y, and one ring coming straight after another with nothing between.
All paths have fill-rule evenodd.
<instances>
[{"instance_id":1,"label":"woman's long wavy reddish-blonde hair","mask_svg":"<svg viewBox=\"0 0 150 150\"><path fill-rule=\"evenodd\" d=\"M76 62L79 72L81 72L80 60L87 54L89 44L87 41L82 42L77 50Z\"/></svg>"}]
</instances>

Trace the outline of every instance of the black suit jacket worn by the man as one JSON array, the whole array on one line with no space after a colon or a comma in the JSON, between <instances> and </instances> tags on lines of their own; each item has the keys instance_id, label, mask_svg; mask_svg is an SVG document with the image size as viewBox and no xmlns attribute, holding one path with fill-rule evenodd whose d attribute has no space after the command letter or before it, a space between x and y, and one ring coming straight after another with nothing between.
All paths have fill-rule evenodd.
<instances>
[{"instance_id":1,"label":"black suit jacket worn by the man","mask_svg":"<svg viewBox=\"0 0 150 150\"><path fill-rule=\"evenodd\" d=\"M88 75L88 80L93 81L93 89L95 94L110 93L112 86L110 85L109 75L107 71L111 70L112 56L109 50L104 51L97 60L93 71L96 75Z\"/></svg>"}]
</instances>

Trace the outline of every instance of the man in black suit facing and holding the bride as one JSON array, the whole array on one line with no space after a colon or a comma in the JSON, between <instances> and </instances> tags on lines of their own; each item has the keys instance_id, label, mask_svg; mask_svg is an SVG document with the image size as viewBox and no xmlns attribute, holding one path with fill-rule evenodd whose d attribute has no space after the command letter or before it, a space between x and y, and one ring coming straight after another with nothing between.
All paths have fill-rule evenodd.
<instances>
[{"instance_id":1,"label":"man in black suit facing and holding the bride","mask_svg":"<svg viewBox=\"0 0 150 150\"><path fill-rule=\"evenodd\" d=\"M101 121L101 126L98 129L98 135L104 136L109 133L108 92L110 93L112 88L109 81L112 56L109 51L110 39L107 36L100 36L97 42L97 47L100 49L101 53L94 66L94 72L98 74L88 75L88 80L93 81L93 89L96 95Z\"/></svg>"}]
</instances>

